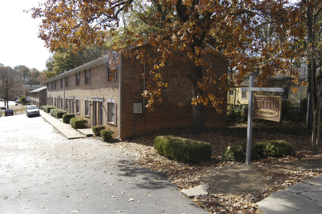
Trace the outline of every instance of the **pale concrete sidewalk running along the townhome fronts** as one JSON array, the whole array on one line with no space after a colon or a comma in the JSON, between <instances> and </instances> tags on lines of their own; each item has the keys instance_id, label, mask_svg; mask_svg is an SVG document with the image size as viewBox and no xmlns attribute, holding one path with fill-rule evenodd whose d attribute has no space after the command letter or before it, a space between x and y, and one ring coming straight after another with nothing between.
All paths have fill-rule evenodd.
<instances>
[{"instance_id":1,"label":"pale concrete sidewalk running along the townhome fronts","mask_svg":"<svg viewBox=\"0 0 322 214\"><path fill-rule=\"evenodd\" d=\"M64 135L67 139L75 139L75 138L82 138L91 135L91 131L89 129L82 130L75 130L69 124L63 123L60 119L57 119L46 113L43 110L40 110L40 115L47 120L54 128L56 128L62 135ZM93 133L92 133L93 135Z\"/></svg>"}]
</instances>

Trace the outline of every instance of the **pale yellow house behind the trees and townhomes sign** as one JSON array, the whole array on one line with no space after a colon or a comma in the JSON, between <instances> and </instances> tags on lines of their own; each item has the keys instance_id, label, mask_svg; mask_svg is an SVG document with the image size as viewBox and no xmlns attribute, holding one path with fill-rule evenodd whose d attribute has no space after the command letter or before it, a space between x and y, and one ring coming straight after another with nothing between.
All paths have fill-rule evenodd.
<instances>
[{"instance_id":1,"label":"pale yellow house behind the trees and townhomes sign","mask_svg":"<svg viewBox=\"0 0 322 214\"><path fill-rule=\"evenodd\" d=\"M307 71L306 67L296 68L299 73L300 81L307 81ZM256 79L256 73L255 79ZM245 78L241 86L236 86L230 88L227 95L227 105L230 107L238 105L248 105L248 91L242 91L241 87L248 87L249 77ZM301 111L304 107L303 101L308 99L308 86L296 85L292 81L292 77L288 74L276 74L274 77L269 79L270 87L284 88L284 93L282 93L282 100L288 100L292 103L294 109ZM295 89L295 90L293 90ZM263 92L259 92L263 94ZM256 92L254 92L256 94ZM280 93L278 94L280 95Z\"/></svg>"}]
</instances>

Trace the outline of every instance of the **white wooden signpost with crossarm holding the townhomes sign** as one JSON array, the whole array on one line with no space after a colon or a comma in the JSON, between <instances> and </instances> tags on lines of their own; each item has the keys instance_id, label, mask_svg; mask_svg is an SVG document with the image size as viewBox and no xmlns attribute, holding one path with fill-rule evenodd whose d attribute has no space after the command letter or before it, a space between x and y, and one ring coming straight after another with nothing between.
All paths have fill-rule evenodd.
<instances>
[{"instance_id":1,"label":"white wooden signpost with crossarm holding the townhomes sign","mask_svg":"<svg viewBox=\"0 0 322 214\"><path fill-rule=\"evenodd\" d=\"M247 145L246 145L246 164L249 164L251 162L254 91L284 92L284 89L283 88L256 88L256 87L254 87L254 76L250 75L249 76L249 87L242 87L241 90L242 91L249 91L248 121L247 121Z\"/></svg>"}]
</instances>

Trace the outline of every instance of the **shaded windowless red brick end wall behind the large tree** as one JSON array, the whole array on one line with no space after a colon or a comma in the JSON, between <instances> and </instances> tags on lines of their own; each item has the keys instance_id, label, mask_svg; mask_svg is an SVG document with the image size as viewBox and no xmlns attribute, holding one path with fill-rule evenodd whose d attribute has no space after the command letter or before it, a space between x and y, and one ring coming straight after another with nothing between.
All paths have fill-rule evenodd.
<instances>
[{"instance_id":1,"label":"shaded windowless red brick end wall behind the large tree","mask_svg":"<svg viewBox=\"0 0 322 214\"><path fill-rule=\"evenodd\" d=\"M152 54L152 53L150 53ZM122 137L130 137L134 134L133 103L142 103L144 65L138 60L122 59ZM215 70L223 74L227 70L227 62L215 57ZM152 65L146 64L146 73L150 73ZM145 114L136 114L135 134L158 130L164 127L179 127L191 125L191 97L190 83L182 83L182 74L191 69L187 62L176 60L171 66L162 68L160 72L166 78L168 87L163 90L162 103L155 102L154 110L145 109ZM203 71L205 72L205 70ZM218 75L219 76L219 75ZM213 89L216 95L226 97L226 92L219 93ZM178 104L183 103L184 107ZM145 100L145 104L147 100ZM215 108L205 107L205 120L207 126L226 126L226 103L222 105L223 112L217 114Z\"/></svg>"}]
</instances>

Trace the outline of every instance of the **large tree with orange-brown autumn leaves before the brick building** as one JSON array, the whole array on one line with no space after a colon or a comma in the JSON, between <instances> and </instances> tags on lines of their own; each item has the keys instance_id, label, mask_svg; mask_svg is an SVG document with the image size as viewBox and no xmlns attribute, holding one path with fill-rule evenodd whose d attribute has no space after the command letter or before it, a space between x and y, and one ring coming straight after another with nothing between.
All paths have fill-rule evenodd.
<instances>
[{"instance_id":1,"label":"large tree with orange-brown autumn leaves before the brick building","mask_svg":"<svg viewBox=\"0 0 322 214\"><path fill-rule=\"evenodd\" d=\"M52 51L109 43L146 63L144 52L122 48L152 46L158 56L149 59L153 81L143 93L149 107L162 101L168 84L160 69L174 58L190 63L185 77L191 86L193 133L207 129L204 105L221 111L224 98L208 89L227 90L226 76L215 72L207 56L227 58L234 83L257 71L258 85L265 85L269 76L291 72L292 61L303 58L297 50L305 35L300 15L299 6L284 0L47 0L32 9L34 18L43 19L39 37ZM296 81L296 73L291 74Z\"/></svg>"}]
</instances>

